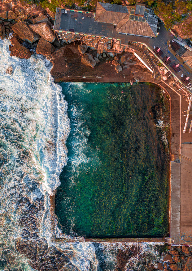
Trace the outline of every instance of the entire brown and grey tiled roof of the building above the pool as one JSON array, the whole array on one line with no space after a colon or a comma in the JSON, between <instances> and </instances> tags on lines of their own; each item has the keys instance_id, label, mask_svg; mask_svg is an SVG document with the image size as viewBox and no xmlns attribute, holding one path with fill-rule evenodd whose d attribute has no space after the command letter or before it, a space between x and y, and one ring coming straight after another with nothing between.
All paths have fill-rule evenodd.
<instances>
[{"instance_id":1,"label":"entire brown and grey tiled roof of the building above the pool","mask_svg":"<svg viewBox=\"0 0 192 271\"><path fill-rule=\"evenodd\" d=\"M116 31L138 36L155 37L158 19L145 4L121 6L97 2L95 21L113 23Z\"/></svg>"}]
</instances>

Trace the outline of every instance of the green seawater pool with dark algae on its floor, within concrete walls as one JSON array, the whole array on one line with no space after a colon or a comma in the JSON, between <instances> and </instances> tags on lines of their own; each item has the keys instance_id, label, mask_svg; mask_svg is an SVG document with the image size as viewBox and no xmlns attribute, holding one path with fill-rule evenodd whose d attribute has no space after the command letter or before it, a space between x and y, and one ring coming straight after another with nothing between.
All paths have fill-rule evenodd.
<instances>
[{"instance_id":1,"label":"green seawater pool with dark algae on its floor, within concrete walls","mask_svg":"<svg viewBox=\"0 0 192 271\"><path fill-rule=\"evenodd\" d=\"M155 125L160 115L168 115L165 95L150 83L61 86L71 121L68 163L56 193L63 232L86 237L166 233L168 153Z\"/></svg>"}]
</instances>

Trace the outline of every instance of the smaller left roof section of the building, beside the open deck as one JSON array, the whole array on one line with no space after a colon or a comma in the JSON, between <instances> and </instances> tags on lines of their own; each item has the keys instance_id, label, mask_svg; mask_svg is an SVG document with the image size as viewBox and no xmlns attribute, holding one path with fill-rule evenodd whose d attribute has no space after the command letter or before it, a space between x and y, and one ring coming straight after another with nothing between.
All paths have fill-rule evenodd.
<instances>
[{"instance_id":1,"label":"smaller left roof section of the building, beside the open deck","mask_svg":"<svg viewBox=\"0 0 192 271\"><path fill-rule=\"evenodd\" d=\"M97 2L95 21L117 24L127 14L126 6Z\"/></svg>"}]
</instances>

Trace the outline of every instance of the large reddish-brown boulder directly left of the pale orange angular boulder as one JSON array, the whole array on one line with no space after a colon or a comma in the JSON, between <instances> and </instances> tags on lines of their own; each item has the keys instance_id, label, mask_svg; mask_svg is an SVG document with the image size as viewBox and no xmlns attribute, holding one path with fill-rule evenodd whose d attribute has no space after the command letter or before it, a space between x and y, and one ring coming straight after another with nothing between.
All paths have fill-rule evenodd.
<instances>
[{"instance_id":1,"label":"large reddish-brown boulder directly left of the pale orange angular boulder","mask_svg":"<svg viewBox=\"0 0 192 271\"><path fill-rule=\"evenodd\" d=\"M19 21L18 23L15 23L11 28L20 37L21 40L26 40L29 43L33 43L40 39L40 36L33 32L33 30L25 22Z\"/></svg>"}]
</instances>

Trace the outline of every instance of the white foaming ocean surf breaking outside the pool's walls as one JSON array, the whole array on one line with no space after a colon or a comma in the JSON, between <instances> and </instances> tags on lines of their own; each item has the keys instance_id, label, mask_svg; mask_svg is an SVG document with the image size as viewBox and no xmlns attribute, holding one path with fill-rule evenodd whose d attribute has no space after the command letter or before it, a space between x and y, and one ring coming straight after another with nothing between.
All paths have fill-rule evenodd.
<instances>
[{"instance_id":1,"label":"white foaming ocean surf breaking outside the pool's walls","mask_svg":"<svg viewBox=\"0 0 192 271\"><path fill-rule=\"evenodd\" d=\"M10 57L9 45L0 40L0 270L157 266L164 256L162 243L91 243L62 231L50 201L68 161L68 103L53 83L49 61ZM9 66L12 74L5 72ZM82 159L89 158L81 154L73 163Z\"/></svg>"}]
</instances>

